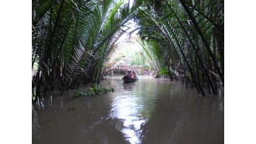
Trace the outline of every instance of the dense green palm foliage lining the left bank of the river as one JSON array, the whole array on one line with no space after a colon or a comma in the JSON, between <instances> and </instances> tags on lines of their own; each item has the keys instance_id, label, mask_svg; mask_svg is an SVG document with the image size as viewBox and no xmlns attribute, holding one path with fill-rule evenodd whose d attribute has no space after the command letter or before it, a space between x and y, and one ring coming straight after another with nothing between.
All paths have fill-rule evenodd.
<instances>
[{"instance_id":1,"label":"dense green palm foliage lining the left bank of the river","mask_svg":"<svg viewBox=\"0 0 256 144\"><path fill-rule=\"evenodd\" d=\"M139 5L33 0L33 99L47 90L96 81L109 47L125 33L121 28L130 29L126 22Z\"/></svg>"}]
</instances>

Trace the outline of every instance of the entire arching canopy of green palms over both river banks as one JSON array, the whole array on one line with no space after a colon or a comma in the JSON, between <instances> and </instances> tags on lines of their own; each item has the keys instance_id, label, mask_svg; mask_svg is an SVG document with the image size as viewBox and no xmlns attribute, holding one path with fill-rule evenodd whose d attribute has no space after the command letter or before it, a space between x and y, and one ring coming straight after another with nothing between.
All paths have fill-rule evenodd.
<instances>
[{"instance_id":1,"label":"entire arching canopy of green palms over both river banks","mask_svg":"<svg viewBox=\"0 0 256 144\"><path fill-rule=\"evenodd\" d=\"M32 14L33 98L99 81L130 20L150 67L182 71L202 94L204 84L215 92L213 81L223 82L221 0L33 0Z\"/></svg>"}]
</instances>

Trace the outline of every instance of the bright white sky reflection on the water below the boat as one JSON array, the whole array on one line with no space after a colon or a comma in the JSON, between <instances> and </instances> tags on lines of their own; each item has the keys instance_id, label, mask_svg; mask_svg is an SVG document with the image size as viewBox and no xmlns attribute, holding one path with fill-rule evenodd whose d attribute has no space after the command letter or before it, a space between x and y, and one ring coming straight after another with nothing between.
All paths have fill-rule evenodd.
<instances>
[{"instance_id":1,"label":"bright white sky reflection on the water below the boat","mask_svg":"<svg viewBox=\"0 0 256 144\"><path fill-rule=\"evenodd\" d=\"M132 144L140 143L141 126L146 122L141 115L144 105L140 101L141 98L134 92L136 84L123 83L122 94L114 94L112 101L112 118L117 118L118 122L122 122L122 128L117 127L116 129L123 132L126 140Z\"/></svg>"}]
</instances>

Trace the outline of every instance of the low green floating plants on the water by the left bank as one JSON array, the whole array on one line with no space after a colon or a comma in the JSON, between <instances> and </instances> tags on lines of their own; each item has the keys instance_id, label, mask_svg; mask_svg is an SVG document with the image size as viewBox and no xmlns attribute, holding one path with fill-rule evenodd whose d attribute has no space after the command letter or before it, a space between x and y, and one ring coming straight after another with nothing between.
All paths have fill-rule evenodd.
<instances>
[{"instance_id":1,"label":"low green floating plants on the water by the left bank","mask_svg":"<svg viewBox=\"0 0 256 144\"><path fill-rule=\"evenodd\" d=\"M95 86L94 84L91 85L91 87L88 89L88 91L74 91L74 97L84 97L84 96L95 96L95 95L101 95L101 94L107 94L109 92L114 92L114 88L106 88L102 86Z\"/></svg>"}]
</instances>

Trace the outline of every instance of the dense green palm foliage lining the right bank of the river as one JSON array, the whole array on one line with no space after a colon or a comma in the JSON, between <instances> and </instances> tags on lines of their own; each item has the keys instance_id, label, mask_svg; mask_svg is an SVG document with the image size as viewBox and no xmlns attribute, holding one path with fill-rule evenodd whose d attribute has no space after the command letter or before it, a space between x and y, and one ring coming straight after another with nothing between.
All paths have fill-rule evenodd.
<instances>
[{"instance_id":1,"label":"dense green palm foliage lining the right bank of the river","mask_svg":"<svg viewBox=\"0 0 256 144\"><path fill-rule=\"evenodd\" d=\"M158 43L168 73L178 70L202 95L204 86L216 94L214 84L224 83L223 1L164 0L143 5L136 16L140 37Z\"/></svg>"}]
</instances>

